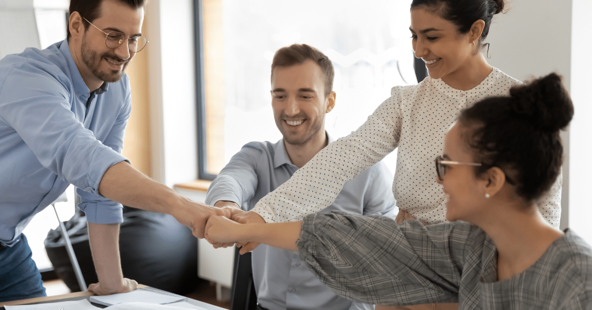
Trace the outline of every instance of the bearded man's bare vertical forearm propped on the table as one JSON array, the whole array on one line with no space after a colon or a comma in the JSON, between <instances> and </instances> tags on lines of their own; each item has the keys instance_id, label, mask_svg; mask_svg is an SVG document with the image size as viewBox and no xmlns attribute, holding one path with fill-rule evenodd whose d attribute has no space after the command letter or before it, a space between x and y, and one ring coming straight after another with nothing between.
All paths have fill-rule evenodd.
<instances>
[{"instance_id":1,"label":"bearded man's bare vertical forearm propped on the table","mask_svg":"<svg viewBox=\"0 0 592 310\"><path fill-rule=\"evenodd\" d=\"M88 223L88 238L92 260L99 283L113 292L123 285L119 255L119 224Z\"/></svg>"}]
</instances>

